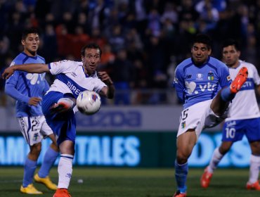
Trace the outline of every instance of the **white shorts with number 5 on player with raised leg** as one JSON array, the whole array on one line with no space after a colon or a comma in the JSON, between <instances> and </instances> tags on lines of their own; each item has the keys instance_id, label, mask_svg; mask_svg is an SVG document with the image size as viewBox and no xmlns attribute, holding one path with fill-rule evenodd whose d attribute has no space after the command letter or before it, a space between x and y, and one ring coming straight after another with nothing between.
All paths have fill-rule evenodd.
<instances>
[{"instance_id":1,"label":"white shorts with number 5 on player with raised leg","mask_svg":"<svg viewBox=\"0 0 260 197\"><path fill-rule=\"evenodd\" d=\"M202 129L214 127L222 122L226 118L227 110L223 116L219 117L210 108L211 103L212 100L202 101L183 110L181 112L177 137L187 132L188 129L195 129L198 139Z\"/></svg>"}]
</instances>

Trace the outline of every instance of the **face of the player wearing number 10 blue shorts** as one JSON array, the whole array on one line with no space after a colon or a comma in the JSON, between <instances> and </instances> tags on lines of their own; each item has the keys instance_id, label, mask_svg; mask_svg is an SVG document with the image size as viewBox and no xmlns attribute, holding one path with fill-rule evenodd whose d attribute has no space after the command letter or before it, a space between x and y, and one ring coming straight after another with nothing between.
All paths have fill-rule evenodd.
<instances>
[{"instance_id":1,"label":"face of the player wearing number 10 blue shorts","mask_svg":"<svg viewBox=\"0 0 260 197\"><path fill-rule=\"evenodd\" d=\"M239 65L240 51L235 49L235 46L230 45L223 48L222 51L223 62L228 65L228 67L236 68Z\"/></svg>"}]
</instances>

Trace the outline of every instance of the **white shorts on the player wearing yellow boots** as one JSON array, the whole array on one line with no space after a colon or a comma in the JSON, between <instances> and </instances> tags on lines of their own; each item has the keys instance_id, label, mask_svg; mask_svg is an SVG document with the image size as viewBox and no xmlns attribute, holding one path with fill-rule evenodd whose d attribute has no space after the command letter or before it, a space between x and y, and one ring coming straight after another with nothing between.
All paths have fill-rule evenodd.
<instances>
[{"instance_id":1,"label":"white shorts on the player wearing yellow boots","mask_svg":"<svg viewBox=\"0 0 260 197\"><path fill-rule=\"evenodd\" d=\"M53 134L53 131L46 123L44 115L17 117L17 120L20 131L30 146L39 143L42 139Z\"/></svg>"}]
</instances>

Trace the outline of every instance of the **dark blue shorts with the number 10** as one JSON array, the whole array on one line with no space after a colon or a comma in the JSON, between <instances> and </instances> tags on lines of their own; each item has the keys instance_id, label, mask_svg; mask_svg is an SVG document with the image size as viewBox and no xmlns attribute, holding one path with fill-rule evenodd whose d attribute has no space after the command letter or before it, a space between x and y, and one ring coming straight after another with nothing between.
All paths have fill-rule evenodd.
<instances>
[{"instance_id":1,"label":"dark blue shorts with the number 10","mask_svg":"<svg viewBox=\"0 0 260 197\"><path fill-rule=\"evenodd\" d=\"M260 140L260 117L225 122L222 131L222 141L240 141L244 134L247 136L248 141Z\"/></svg>"}]
</instances>

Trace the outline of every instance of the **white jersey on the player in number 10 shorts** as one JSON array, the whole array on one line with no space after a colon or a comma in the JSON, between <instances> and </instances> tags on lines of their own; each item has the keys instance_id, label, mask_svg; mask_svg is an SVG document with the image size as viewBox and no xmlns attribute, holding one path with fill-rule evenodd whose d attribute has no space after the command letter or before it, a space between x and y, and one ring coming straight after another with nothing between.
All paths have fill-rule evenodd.
<instances>
[{"instance_id":1,"label":"white jersey on the player in number 10 shorts","mask_svg":"<svg viewBox=\"0 0 260 197\"><path fill-rule=\"evenodd\" d=\"M256 101L255 87L260 84L260 77L254 65L240 61L238 68L229 68L232 80L238 75L240 68L246 67L248 78L240 91L235 95L228 111L228 120L242 120L260 117L259 106Z\"/></svg>"}]
</instances>

